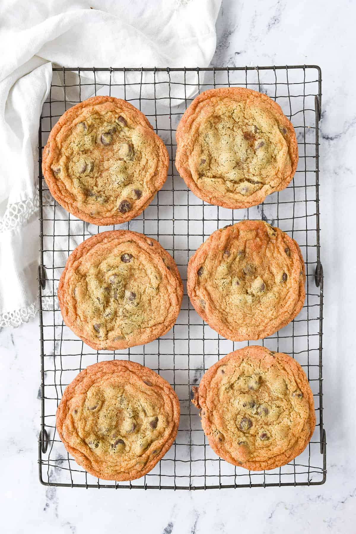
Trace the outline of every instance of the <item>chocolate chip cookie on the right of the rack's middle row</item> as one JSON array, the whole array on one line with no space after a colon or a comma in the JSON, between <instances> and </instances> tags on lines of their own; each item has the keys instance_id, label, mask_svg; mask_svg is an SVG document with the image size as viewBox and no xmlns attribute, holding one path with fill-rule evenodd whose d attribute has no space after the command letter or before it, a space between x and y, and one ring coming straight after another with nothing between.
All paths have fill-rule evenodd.
<instances>
[{"instance_id":1,"label":"chocolate chip cookie on the right of the rack's middle row","mask_svg":"<svg viewBox=\"0 0 356 534\"><path fill-rule=\"evenodd\" d=\"M297 242L264 221L216 230L188 264L192 305L232 341L262 339L290 323L303 307L304 282Z\"/></svg>"}]
</instances>

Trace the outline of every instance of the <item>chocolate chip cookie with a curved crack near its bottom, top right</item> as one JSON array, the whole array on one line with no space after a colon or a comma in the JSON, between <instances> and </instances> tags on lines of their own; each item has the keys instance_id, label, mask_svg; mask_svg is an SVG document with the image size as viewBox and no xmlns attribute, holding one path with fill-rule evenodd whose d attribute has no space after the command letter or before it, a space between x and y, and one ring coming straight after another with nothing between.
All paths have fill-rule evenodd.
<instances>
[{"instance_id":1,"label":"chocolate chip cookie with a curved crack near its bottom, top right","mask_svg":"<svg viewBox=\"0 0 356 534\"><path fill-rule=\"evenodd\" d=\"M197 96L176 131L175 165L189 189L224 208L248 208L293 178L298 144L274 100L251 89L210 89Z\"/></svg>"}]
</instances>

